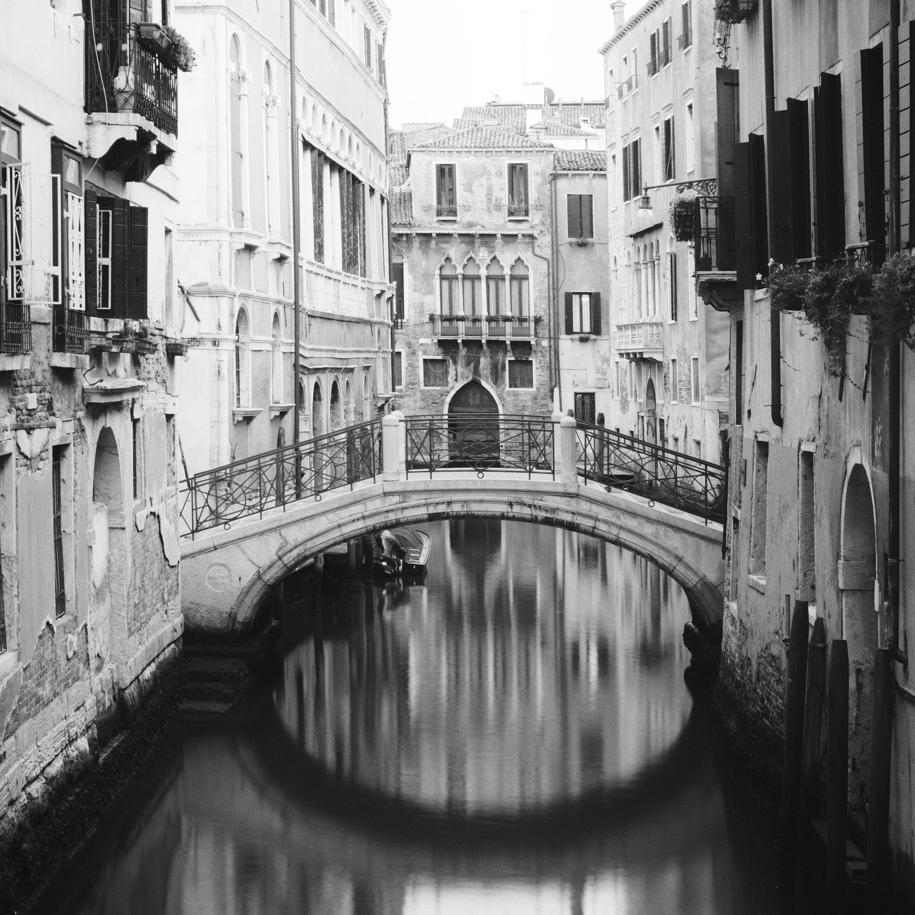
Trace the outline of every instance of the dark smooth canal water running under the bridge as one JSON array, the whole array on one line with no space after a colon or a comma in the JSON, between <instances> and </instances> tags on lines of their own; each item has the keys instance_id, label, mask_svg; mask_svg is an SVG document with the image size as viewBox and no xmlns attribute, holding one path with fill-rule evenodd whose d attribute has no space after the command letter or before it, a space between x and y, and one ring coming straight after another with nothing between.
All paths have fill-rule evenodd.
<instances>
[{"instance_id":1,"label":"dark smooth canal water running under the bridge","mask_svg":"<svg viewBox=\"0 0 915 915\"><path fill-rule=\"evenodd\" d=\"M293 576L244 715L176 729L41 910L778 911L770 827L684 684L680 587L582 534L423 529L424 580Z\"/></svg>"}]
</instances>

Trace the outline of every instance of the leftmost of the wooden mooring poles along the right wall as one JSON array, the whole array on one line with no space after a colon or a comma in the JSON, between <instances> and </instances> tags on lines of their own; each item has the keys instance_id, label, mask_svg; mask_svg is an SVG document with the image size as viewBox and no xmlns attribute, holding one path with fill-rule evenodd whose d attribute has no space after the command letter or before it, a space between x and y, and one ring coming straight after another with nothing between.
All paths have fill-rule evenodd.
<instances>
[{"instance_id":1,"label":"leftmost of the wooden mooring poles along the right wall","mask_svg":"<svg viewBox=\"0 0 915 915\"><path fill-rule=\"evenodd\" d=\"M783 851L794 844L798 798L801 793L804 687L807 681L807 601L794 601L785 688L785 759L781 770L779 839Z\"/></svg>"}]
</instances>

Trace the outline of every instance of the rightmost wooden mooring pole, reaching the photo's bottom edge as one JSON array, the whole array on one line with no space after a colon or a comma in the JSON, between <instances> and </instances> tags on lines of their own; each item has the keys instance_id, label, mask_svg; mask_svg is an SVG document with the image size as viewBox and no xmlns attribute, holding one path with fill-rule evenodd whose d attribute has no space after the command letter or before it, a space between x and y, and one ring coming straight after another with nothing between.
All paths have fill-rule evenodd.
<instances>
[{"instance_id":1,"label":"rightmost wooden mooring pole, reaching the photo's bottom edge","mask_svg":"<svg viewBox=\"0 0 915 915\"><path fill-rule=\"evenodd\" d=\"M889 856L889 771L893 738L893 662L888 648L874 661L874 714L867 786L867 908L886 912L892 898Z\"/></svg>"}]
</instances>

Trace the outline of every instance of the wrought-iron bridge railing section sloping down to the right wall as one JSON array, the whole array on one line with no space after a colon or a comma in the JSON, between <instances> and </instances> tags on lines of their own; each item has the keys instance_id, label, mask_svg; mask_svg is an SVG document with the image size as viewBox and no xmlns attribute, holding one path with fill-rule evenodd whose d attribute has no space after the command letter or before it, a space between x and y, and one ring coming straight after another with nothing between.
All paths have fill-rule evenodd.
<instances>
[{"instance_id":1,"label":"wrought-iron bridge railing section sloping down to the right wall","mask_svg":"<svg viewBox=\"0 0 915 915\"><path fill-rule=\"evenodd\" d=\"M693 458L600 425L578 423L578 473L608 488L633 492L703 518L725 521L727 474Z\"/></svg>"}]
</instances>

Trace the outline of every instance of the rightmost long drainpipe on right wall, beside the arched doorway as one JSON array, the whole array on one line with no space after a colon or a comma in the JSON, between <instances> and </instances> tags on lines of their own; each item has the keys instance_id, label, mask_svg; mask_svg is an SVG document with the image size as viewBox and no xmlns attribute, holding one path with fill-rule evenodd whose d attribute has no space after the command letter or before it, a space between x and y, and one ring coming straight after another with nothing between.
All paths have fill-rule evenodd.
<instances>
[{"instance_id":1,"label":"rightmost long drainpipe on right wall, beside the arched doorway","mask_svg":"<svg viewBox=\"0 0 915 915\"><path fill-rule=\"evenodd\" d=\"M901 214L899 192L899 0L889 5L889 253L900 249ZM899 340L889 344L888 379L888 538L886 586L889 610L888 648L893 658L909 663L909 654L899 646L899 389L901 386L901 350Z\"/></svg>"}]
</instances>

